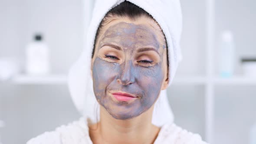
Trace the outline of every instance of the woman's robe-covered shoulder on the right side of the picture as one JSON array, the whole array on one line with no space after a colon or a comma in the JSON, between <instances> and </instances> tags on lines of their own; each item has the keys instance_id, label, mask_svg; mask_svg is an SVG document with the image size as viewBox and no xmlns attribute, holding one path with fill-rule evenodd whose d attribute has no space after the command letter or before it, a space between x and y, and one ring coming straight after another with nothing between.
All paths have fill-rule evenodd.
<instances>
[{"instance_id":1,"label":"woman's robe-covered shoulder on the right side of the picture","mask_svg":"<svg viewBox=\"0 0 256 144\"><path fill-rule=\"evenodd\" d=\"M199 134L187 131L174 123L164 124L156 144L207 144Z\"/></svg>"}]
</instances>

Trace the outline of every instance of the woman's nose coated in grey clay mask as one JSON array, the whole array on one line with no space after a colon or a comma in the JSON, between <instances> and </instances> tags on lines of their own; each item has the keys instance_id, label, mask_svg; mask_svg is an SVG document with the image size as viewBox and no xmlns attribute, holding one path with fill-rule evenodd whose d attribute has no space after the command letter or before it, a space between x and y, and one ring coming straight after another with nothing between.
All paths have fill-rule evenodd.
<instances>
[{"instance_id":1,"label":"woman's nose coated in grey clay mask","mask_svg":"<svg viewBox=\"0 0 256 144\"><path fill-rule=\"evenodd\" d=\"M135 82L135 72L131 61L121 64L117 81L121 85L131 85Z\"/></svg>"}]
</instances>

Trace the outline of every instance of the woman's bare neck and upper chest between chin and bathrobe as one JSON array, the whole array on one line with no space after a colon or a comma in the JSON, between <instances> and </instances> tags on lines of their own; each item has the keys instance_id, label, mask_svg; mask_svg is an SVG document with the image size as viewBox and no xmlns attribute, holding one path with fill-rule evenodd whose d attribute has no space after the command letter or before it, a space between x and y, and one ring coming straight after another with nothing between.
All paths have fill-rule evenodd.
<instances>
[{"instance_id":1,"label":"woman's bare neck and upper chest between chin and bathrobe","mask_svg":"<svg viewBox=\"0 0 256 144\"><path fill-rule=\"evenodd\" d=\"M95 144L153 144L160 128L151 123L152 106L136 118L118 120L101 106L100 121L90 127L90 137ZM97 127L97 129L94 129Z\"/></svg>"}]
</instances>

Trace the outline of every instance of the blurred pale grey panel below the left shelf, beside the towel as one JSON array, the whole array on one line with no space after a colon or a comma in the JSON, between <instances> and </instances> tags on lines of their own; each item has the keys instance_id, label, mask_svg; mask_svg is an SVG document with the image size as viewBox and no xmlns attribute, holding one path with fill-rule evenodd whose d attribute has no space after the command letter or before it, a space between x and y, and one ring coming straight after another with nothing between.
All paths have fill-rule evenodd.
<instances>
[{"instance_id":1,"label":"blurred pale grey panel below the left shelf, beside the towel","mask_svg":"<svg viewBox=\"0 0 256 144\"><path fill-rule=\"evenodd\" d=\"M80 117L66 85L1 84L0 110L3 144L25 144Z\"/></svg>"}]
</instances>

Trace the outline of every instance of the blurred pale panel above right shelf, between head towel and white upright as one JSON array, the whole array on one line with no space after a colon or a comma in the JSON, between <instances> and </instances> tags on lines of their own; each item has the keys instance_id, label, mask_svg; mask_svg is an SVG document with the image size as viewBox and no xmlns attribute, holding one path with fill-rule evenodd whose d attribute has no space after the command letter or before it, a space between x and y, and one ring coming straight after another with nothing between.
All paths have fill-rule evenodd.
<instances>
[{"instance_id":1,"label":"blurred pale panel above right shelf, between head towel and white upright","mask_svg":"<svg viewBox=\"0 0 256 144\"><path fill-rule=\"evenodd\" d=\"M181 0L183 31L181 61L177 75L205 75L206 8L205 0Z\"/></svg>"}]
</instances>

